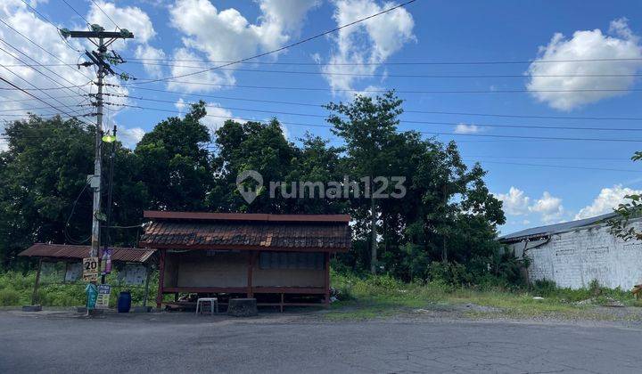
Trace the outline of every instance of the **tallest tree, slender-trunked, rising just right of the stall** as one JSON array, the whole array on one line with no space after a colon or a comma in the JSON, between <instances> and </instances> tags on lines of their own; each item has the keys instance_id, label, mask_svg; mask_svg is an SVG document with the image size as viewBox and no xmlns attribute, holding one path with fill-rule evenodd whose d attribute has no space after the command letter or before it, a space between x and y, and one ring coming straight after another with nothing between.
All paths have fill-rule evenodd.
<instances>
[{"instance_id":1,"label":"tallest tree, slender-trunked, rising just right of the stall","mask_svg":"<svg viewBox=\"0 0 642 374\"><path fill-rule=\"evenodd\" d=\"M348 167L353 177L367 177L365 188L369 191L367 203L370 222L370 272L376 272L378 208L374 197L377 187L374 178L388 176L392 172L391 142L399 125L402 101L393 91L375 98L356 95L349 103L330 102L325 105L333 113L327 121L333 125L333 134L346 143Z\"/></svg>"}]
</instances>

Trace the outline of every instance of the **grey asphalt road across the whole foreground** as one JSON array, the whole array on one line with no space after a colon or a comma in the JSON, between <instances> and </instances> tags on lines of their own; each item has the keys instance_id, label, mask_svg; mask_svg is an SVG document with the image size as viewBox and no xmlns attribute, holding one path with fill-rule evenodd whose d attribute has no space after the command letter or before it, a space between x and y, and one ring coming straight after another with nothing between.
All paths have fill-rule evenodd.
<instances>
[{"instance_id":1,"label":"grey asphalt road across the whole foreground","mask_svg":"<svg viewBox=\"0 0 642 374\"><path fill-rule=\"evenodd\" d=\"M0 312L0 373L640 372L642 328Z\"/></svg>"}]
</instances>

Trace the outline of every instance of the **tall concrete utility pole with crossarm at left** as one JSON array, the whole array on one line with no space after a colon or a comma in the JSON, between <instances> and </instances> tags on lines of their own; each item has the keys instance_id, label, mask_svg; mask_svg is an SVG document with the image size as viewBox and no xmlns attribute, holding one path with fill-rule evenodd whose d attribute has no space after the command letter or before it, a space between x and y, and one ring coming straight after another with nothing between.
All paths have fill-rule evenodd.
<instances>
[{"instance_id":1,"label":"tall concrete utility pole with crossarm at left","mask_svg":"<svg viewBox=\"0 0 642 374\"><path fill-rule=\"evenodd\" d=\"M85 66L95 65L98 68L98 93L96 93L96 135L95 135L95 159L94 159L94 175L92 177L91 186L94 188L94 208L92 215L92 244L89 251L90 257L96 257L100 251L100 226L103 220L101 213L101 186L102 186L102 161L103 161L103 79L107 73L115 74L111 69L109 62L105 61L107 58L107 47L118 39L130 39L134 34L126 28L121 28L119 31L105 31L99 25L91 25L91 31L70 31L66 28L61 29L63 37L82 37L87 38L97 48L98 51L88 52L86 56L91 60L92 64Z\"/></svg>"}]
</instances>

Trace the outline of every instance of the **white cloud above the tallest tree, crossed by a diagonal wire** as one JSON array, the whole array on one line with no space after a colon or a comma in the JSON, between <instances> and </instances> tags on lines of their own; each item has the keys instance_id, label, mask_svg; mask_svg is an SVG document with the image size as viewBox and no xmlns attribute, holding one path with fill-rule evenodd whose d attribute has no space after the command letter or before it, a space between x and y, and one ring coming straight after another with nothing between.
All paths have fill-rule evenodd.
<instances>
[{"instance_id":1,"label":"white cloud above the tallest tree, crossed by a diagonal wire","mask_svg":"<svg viewBox=\"0 0 642 374\"><path fill-rule=\"evenodd\" d=\"M377 12L382 12L392 3L383 6L374 0L337 0L333 18L337 25L345 25ZM350 90L362 77L342 74L373 74L383 61L396 53L407 42L415 40L415 21L404 8L382 14L350 28L342 28L333 37L334 47L328 63L322 68L325 79L333 90ZM342 65L367 63L366 65ZM334 74L334 75L333 75Z\"/></svg>"}]
</instances>

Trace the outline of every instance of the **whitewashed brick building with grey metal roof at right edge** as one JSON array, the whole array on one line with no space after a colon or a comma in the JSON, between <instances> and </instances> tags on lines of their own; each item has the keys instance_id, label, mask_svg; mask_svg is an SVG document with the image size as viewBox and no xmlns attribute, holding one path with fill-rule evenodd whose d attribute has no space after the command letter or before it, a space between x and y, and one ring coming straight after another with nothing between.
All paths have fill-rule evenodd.
<instances>
[{"instance_id":1,"label":"whitewashed brick building with grey metal roof at right edge","mask_svg":"<svg viewBox=\"0 0 642 374\"><path fill-rule=\"evenodd\" d=\"M613 236L599 215L564 224L526 229L500 240L515 256L530 258L529 280L554 280L559 287L588 288L592 280L603 287L632 289L642 283L642 241ZM640 221L632 227L642 230Z\"/></svg>"}]
</instances>

